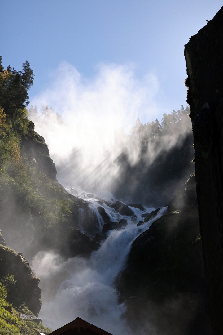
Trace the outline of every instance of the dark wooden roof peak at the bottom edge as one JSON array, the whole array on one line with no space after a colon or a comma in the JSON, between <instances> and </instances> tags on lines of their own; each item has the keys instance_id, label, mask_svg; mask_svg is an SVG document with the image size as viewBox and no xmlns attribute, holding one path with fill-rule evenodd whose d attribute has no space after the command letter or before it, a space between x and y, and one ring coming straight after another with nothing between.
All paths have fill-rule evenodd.
<instances>
[{"instance_id":1,"label":"dark wooden roof peak at the bottom edge","mask_svg":"<svg viewBox=\"0 0 223 335\"><path fill-rule=\"evenodd\" d=\"M105 330L98 328L91 323L82 320L81 318L76 318L74 321L68 323L67 325L54 330L50 335L112 335Z\"/></svg>"}]
</instances>

